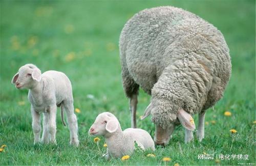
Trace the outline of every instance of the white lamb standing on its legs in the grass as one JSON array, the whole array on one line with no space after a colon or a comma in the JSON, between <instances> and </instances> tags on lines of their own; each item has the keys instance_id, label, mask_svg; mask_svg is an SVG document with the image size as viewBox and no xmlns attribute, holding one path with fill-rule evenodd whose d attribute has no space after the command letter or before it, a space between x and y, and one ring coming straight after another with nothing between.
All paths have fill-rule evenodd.
<instances>
[{"instance_id":1,"label":"white lamb standing on its legs in the grass","mask_svg":"<svg viewBox=\"0 0 256 166\"><path fill-rule=\"evenodd\" d=\"M78 146L77 119L74 114L72 86L69 78L62 72L41 71L33 64L26 64L19 68L12 78L12 84L17 89L29 89L28 99L31 103L32 128L34 144L40 142L40 113L44 114L42 143L56 143L56 112L61 107L61 120L63 110L66 111L70 129L70 144Z\"/></svg>"}]
</instances>

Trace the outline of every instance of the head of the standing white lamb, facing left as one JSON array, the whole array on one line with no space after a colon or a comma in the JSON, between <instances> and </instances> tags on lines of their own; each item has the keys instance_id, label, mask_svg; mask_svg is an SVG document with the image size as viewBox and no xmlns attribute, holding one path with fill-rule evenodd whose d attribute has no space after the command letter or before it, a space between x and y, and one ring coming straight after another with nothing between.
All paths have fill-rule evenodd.
<instances>
[{"instance_id":1,"label":"head of the standing white lamb, facing left","mask_svg":"<svg viewBox=\"0 0 256 166\"><path fill-rule=\"evenodd\" d=\"M26 64L13 76L12 84L17 89L31 89L40 80L41 71L33 64Z\"/></svg>"}]
</instances>

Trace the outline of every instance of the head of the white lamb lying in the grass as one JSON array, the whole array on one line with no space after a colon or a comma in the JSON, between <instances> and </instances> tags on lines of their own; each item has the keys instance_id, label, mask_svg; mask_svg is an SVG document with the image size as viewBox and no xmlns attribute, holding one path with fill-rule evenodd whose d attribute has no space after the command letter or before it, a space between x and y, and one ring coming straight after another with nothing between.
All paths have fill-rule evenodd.
<instances>
[{"instance_id":1,"label":"head of the white lamb lying in the grass","mask_svg":"<svg viewBox=\"0 0 256 166\"><path fill-rule=\"evenodd\" d=\"M89 129L89 134L109 137L120 130L121 127L117 118L109 112L104 112L97 116Z\"/></svg>"}]
</instances>

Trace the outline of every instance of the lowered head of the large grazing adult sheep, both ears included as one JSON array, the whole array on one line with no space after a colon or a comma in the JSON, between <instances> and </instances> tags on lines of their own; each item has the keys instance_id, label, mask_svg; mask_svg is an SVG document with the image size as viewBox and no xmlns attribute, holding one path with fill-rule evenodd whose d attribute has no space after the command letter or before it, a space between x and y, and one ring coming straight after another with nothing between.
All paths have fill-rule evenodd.
<instances>
[{"instance_id":1,"label":"lowered head of the large grazing adult sheep, both ears included","mask_svg":"<svg viewBox=\"0 0 256 166\"><path fill-rule=\"evenodd\" d=\"M152 121L156 124L155 143L156 145L166 146L169 142L170 135L174 130L176 123L180 122L183 127L194 131L195 124L193 118L180 107L175 107L166 100L153 100L147 106L144 115L141 119L152 115ZM173 110L174 109L174 110Z\"/></svg>"}]
</instances>

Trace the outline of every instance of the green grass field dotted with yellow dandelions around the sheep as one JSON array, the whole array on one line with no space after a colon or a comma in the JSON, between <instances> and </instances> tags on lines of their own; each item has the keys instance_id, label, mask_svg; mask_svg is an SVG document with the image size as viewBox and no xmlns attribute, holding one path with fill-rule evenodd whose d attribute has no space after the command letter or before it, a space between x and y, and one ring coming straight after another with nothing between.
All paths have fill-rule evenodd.
<instances>
[{"instance_id":1,"label":"green grass field dotted with yellow dandelions around the sheep","mask_svg":"<svg viewBox=\"0 0 256 166\"><path fill-rule=\"evenodd\" d=\"M0 15L0 165L255 165L255 1L1 1ZM97 144L88 130L104 111L115 114L123 129L130 127L130 111L121 84L118 39L124 23L138 11L172 5L214 24L230 48L232 76L225 95L206 113L205 139L184 143L182 127L156 157L136 151L129 160L106 161L104 139ZM33 145L27 90L11 84L26 63L41 71L65 72L72 81L80 146L69 146L69 130L57 114L57 145ZM138 119L150 102L140 91ZM230 117L224 112L231 112ZM197 123L197 116L195 121ZM150 118L138 121L154 135ZM237 133L230 133L236 129ZM198 154L214 154L213 160ZM245 159L216 160L216 155L242 154ZM163 157L172 161L163 162Z\"/></svg>"}]
</instances>

